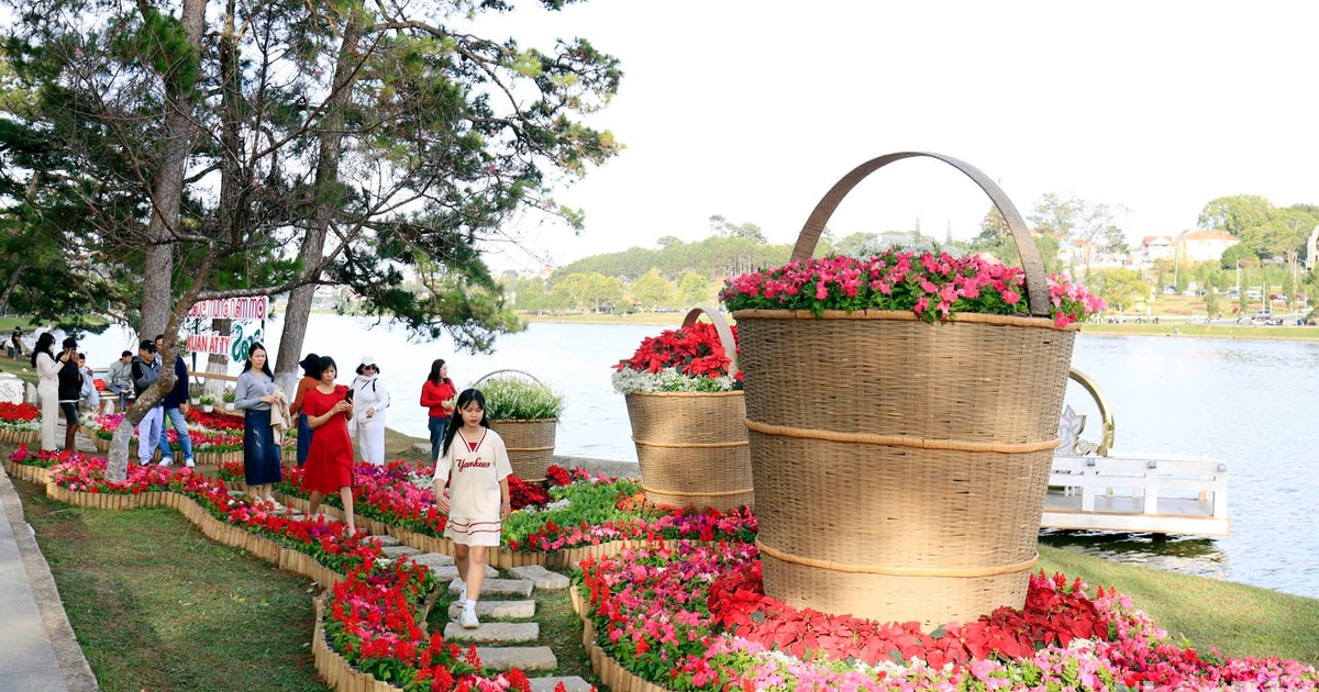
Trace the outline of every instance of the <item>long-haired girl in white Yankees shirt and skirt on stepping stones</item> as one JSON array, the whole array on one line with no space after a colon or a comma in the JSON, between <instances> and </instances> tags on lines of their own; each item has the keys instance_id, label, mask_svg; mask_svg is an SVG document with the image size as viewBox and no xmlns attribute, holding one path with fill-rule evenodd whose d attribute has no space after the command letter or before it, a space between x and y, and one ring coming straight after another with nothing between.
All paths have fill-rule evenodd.
<instances>
[{"instance_id":1,"label":"long-haired girl in white Yankees shirt and skirt on stepping stones","mask_svg":"<svg viewBox=\"0 0 1319 692\"><path fill-rule=\"evenodd\" d=\"M445 538L454 542L463 584L459 621L467 629L480 626L476 601L485 580L485 554L499 547L504 519L513 510L508 494L512 473L504 439L485 420L485 395L479 389L463 390L435 463L435 504L448 514Z\"/></svg>"}]
</instances>

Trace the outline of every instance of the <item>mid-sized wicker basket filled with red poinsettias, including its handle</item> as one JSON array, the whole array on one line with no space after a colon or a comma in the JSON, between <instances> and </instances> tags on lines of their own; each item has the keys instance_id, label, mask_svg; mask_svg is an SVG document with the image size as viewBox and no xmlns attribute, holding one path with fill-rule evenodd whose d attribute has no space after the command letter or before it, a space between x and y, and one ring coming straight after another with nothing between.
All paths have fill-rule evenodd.
<instances>
[{"instance_id":1,"label":"mid-sized wicker basket filled with red poinsettias, including its handle","mask_svg":"<svg viewBox=\"0 0 1319 692\"><path fill-rule=\"evenodd\" d=\"M704 314L711 322L698 322ZM736 331L710 308L648 336L615 366L646 500L732 510L754 505Z\"/></svg>"}]
</instances>

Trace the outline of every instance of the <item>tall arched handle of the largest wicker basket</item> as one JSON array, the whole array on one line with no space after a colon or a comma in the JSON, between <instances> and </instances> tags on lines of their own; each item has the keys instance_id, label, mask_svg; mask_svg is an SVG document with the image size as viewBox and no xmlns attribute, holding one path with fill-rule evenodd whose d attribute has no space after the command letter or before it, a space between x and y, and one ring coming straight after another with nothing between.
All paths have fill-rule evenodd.
<instances>
[{"instance_id":1,"label":"tall arched handle of the largest wicker basket","mask_svg":"<svg viewBox=\"0 0 1319 692\"><path fill-rule=\"evenodd\" d=\"M1025 270L1026 304L1030 308L1030 314L1034 316L1049 316L1049 285L1045 283L1045 264L1039 260L1039 248L1035 246L1034 239L1030 237L1026 221L1022 220L1017 207L1012 204L1012 200L1008 199L1002 188L984 173L980 173L980 169L950 156L930 152L898 152L872 158L852 169L842 181L834 183L834 187L824 195L824 199L820 199L815 204L815 211L806 219L806 225L802 227L802 232L797 236L797 245L793 246L793 261L810 260L811 253L815 252L815 244L819 243L820 232L824 231L824 224L828 223L830 216L834 215L834 210L843 202L843 198L856 187L856 183L894 161L913 157L930 157L943 161L967 174L968 178L975 181L989 195L993 206L998 208L1004 220L1008 221L1013 241L1017 244L1017 254L1021 256L1021 268Z\"/></svg>"}]
</instances>

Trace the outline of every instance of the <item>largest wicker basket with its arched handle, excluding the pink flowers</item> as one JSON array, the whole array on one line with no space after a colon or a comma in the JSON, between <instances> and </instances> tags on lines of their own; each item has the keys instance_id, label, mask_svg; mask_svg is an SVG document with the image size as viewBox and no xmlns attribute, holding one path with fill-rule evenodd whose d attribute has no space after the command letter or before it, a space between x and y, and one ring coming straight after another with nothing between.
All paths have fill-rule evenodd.
<instances>
[{"instance_id":1,"label":"largest wicker basket with its arched handle, excluding the pink flowers","mask_svg":"<svg viewBox=\"0 0 1319 692\"><path fill-rule=\"evenodd\" d=\"M1041 316L1043 265L1002 191L939 154L889 154L851 171L811 214L793 260L811 256L857 182L915 156L989 194L1016 236L1033 316L733 318L765 593L929 629L1025 605L1076 326Z\"/></svg>"}]
</instances>

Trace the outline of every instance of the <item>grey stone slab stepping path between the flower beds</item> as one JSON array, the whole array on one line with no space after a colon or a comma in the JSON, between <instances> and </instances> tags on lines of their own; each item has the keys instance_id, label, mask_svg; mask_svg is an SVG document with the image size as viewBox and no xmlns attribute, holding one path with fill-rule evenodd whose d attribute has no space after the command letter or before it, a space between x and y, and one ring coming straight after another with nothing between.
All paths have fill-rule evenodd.
<instances>
[{"instance_id":1,"label":"grey stone slab stepping path between the flower beds","mask_svg":"<svg viewBox=\"0 0 1319 692\"><path fill-rule=\"evenodd\" d=\"M406 555L434 571L437 580L448 580L447 592L456 598L458 567L454 558L439 552L421 552L401 546L393 536L369 536L379 540L388 558ZM539 565L514 567L509 573L516 579L503 579L493 567L485 568L485 583L481 585L481 600L476 602L476 614L481 625L466 629L458 622L462 605L448 605L448 620L445 623L445 639L462 643L475 643L481 664L493 671L521 668L528 675L537 671L553 671L559 662L547 646L537 646L541 626L536 618L536 600L530 598L536 589L562 591L571 584L568 577ZM487 622L489 620L489 622ZM554 692L562 683L567 692L590 692L591 683L578 676L532 678L533 692Z\"/></svg>"}]
</instances>

